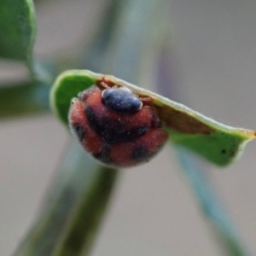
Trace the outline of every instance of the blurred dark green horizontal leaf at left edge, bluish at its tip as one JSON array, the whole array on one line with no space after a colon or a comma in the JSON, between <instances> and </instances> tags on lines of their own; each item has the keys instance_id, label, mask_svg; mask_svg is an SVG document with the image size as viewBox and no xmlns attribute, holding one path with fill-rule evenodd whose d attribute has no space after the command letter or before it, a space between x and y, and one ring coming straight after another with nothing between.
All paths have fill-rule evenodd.
<instances>
[{"instance_id":1,"label":"blurred dark green horizontal leaf at left edge, bluish at its tip","mask_svg":"<svg viewBox=\"0 0 256 256\"><path fill-rule=\"evenodd\" d=\"M0 119L49 111L49 86L38 82L0 85Z\"/></svg>"}]
</instances>

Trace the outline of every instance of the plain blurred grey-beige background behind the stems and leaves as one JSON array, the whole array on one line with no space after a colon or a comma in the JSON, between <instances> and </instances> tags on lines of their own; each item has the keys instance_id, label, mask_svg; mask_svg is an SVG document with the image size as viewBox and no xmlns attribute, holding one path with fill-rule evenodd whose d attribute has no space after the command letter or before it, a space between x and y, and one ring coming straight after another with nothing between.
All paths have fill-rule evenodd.
<instances>
[{"instance_id":1,"label":"plain blurred grey-beige background behind the stems and leaves","mask_svg":"<svg viewBox=\"0 0 256 256\"><path fill-rule=\"evenodd\" d=\"M38 1L36 55L47 58L63 50L69 55L79 42L89 44L104 4ZM172 1L172 73L181 103L224 123L256 129L255 13L256 2L249 0ZM25 76L25 67L0 62L2 81ZM1 121L1 255L13 253L26 234L71 140L50 114ZM208 168L253 252L255 152L256 143L249 143L233 166ZM222 255L172 148L147 165L120 172L92 256Z\"/></svg>"}]
</instances>

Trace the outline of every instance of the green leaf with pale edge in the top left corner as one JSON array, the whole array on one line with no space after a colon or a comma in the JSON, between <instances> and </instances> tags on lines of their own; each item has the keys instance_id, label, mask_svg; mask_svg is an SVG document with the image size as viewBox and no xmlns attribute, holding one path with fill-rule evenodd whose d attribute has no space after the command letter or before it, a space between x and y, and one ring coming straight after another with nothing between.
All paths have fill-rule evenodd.
<instances>
[{"instance_id":1,"label":"green leaf with pale edge in the top left corner","mask_svg":"<svg viewBox=\"0 0 256 256\"><path fill-rule=\"evenodd\" d=\"M0 57L32 63L36 22L32 0L0 1Z\"/></svg>"}]
</instances>

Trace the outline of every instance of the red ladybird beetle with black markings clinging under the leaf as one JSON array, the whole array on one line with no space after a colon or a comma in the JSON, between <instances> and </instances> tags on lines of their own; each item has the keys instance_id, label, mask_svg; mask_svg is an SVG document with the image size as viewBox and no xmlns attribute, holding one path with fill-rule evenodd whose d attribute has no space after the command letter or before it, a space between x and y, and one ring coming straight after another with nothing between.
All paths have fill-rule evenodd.
<instances>
[{"instance_id":1,"label":"red ladybird beetle with black markings clinging under the leaf","mask_svg":"<svg viewBox=\"0 0 256 256\"><path fill-rule=\"evenodd\" d=\"M73 98L68 118L73 134L87 152L108 166L147 162L168 138L151 100L125 87L104 82L102 87Z\"/></svg>"}]
</instances>

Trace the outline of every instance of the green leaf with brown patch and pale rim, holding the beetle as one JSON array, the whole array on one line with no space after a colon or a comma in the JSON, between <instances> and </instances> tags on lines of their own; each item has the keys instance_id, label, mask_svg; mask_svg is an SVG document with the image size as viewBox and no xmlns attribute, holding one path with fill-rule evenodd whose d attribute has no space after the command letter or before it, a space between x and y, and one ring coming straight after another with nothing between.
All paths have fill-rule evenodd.
<instances>
[{"instance_id":1,"label":"green leaf with brown patch and pale rim, holding the beetle","mask_svg":"<svg viewBox=\"0 0 256 256\"><path fill-rule=\"evenodd\" d=\"M190 148L218 166L226 166L236 160L245 144L255 138L255 131L221 124L152 91L88 70L70 70L56 79L50 93L51 107L56 116L67 125L71 99L91 85L101 84L103 78L113 84L130 88L139 96L150 97L169 131L172 142Z\"/></svg>"}]
</instances>

